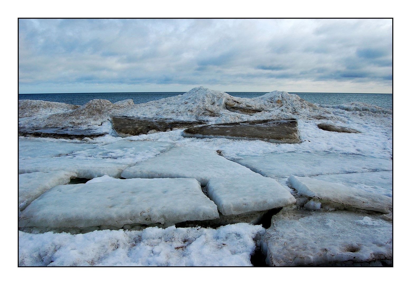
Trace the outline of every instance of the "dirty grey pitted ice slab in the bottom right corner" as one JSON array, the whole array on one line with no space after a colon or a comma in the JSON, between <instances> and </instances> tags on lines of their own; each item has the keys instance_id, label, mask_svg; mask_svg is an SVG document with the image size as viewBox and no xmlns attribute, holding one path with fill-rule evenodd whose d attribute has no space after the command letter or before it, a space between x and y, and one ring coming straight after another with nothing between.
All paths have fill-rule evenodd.
<instances>
[{"instance_id":1,"label":"dirty grey pitted ice slab in the bottom right corner","mask_svg":"<svg viewBox=\"0 0 411 285\"><path fill-rule=\"evenodd\" d=\"M393 259L393 225L349 211L288 211L273 216L262 249L271 266Z\"/></svg>"}]
</instances>

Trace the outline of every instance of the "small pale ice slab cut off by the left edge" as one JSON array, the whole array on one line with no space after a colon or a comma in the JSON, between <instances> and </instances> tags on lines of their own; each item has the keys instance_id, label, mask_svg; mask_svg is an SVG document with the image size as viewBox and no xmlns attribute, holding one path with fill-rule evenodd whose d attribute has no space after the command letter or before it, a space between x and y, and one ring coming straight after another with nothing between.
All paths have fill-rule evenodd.
<instances>
[{"instance_id":1,"label":"small pale ice slab cut off by the left edge","mask_svg":"<svg viewBox=\"0 0 411 285\"><path fill-rule=\"evenodd\" d=\"M23 211L33 200L57 185L67 184L77 177L74 172L47 171L18 175L18 210Z\"/></svg>"}]
</instances>

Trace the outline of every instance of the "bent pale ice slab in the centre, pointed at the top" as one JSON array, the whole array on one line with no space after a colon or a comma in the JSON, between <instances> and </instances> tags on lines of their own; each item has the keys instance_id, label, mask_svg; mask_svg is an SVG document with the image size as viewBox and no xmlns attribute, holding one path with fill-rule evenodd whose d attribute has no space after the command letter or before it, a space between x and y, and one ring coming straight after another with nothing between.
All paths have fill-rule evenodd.
<instances>
[{"instance_id":1,"label":"bent pale ice slab in the centre, pointed at the top","mask_svg":"<svg viewBox=\"0 0 411 285\"><path fill-rule=\"evenodd\" d=\"M295 202L291 193L271 178L229 161L217 152L196 147L173 147L127 168L125 178L195 178L208 187L223 215L283 207Z\"/></svg>"}]
</instances>

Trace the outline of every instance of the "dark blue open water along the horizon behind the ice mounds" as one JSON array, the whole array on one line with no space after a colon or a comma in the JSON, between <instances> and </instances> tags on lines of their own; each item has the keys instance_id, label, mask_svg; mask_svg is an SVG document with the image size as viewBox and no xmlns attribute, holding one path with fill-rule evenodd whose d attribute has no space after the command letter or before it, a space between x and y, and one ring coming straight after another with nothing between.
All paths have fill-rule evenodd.
<instances>
[{"instance_id":1,"label":"dark blue open water along the horizon behind the ice mounds","mask_svg":"<svg viewBox=\"0 0 411 285\"><path fill-rule=\"evenodd\" d=\"M92 99L106 99L113 103L125 99L133 99L135 104L158 100L166 97L177 96L185 92L127 92L127 93L47 93L47 94L18 94L18 99L32 99L84 105ZM231 96L254 98L268 92L226 92ZM375 93L301 93L297 94L302 99L311 103L336 105L359 101L373 104L386 109L393 109L393 94Z\"/></svg>"}]
</instances>

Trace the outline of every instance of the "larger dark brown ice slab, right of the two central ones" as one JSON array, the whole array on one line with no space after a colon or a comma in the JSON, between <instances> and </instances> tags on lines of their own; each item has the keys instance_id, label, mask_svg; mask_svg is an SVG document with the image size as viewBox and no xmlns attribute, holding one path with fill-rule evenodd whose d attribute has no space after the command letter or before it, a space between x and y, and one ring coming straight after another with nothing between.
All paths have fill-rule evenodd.
<instances>
[{"instance_id":1,"label":"larger dark brown ice slab, right of the two central ones","mask_svg":"<svg viewBox=\"0 0 411 285\"><path fill-rule=\"evenodd\" d=\"M270 143L300 143L296 120L262 120L214 124L184 130L184 137L264 140Z\"/></svg>"}]
</instances>

